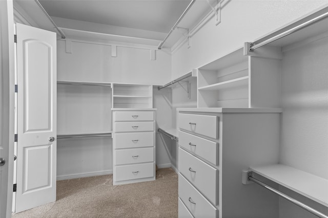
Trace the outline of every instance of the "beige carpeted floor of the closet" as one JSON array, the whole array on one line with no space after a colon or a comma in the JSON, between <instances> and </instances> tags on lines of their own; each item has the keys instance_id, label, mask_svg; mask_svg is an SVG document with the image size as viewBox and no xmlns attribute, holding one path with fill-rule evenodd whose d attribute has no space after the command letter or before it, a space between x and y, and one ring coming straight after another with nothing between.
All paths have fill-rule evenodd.
<instances>
[{"instance_id":1,"label":"beige carpeted floor of the closet","mask_svg":"<svg viewBox=\"0 0 328 218\"><path fill-rule=\"evenodd\" d=\"M177 217L178 176L158 169L156 180L113 186L112 175L57 181L57 200L13 214L29 217Z\"/></svg>"}]
</instances>

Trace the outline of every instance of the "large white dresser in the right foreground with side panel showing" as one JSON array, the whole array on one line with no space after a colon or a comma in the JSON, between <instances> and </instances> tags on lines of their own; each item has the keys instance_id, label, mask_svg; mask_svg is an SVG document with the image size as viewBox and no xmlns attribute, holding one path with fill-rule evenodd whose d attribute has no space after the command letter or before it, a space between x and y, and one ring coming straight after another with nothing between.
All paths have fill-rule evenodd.
<instances>
[{"instance_id":1,"label":"large white dresser in the right foreground with side panel showing","mask_svg":"<svg viewBox=\"0 0 328 218\"><path fill-rule=\"evenodd\" d=\"M178 108L179 217L272 217L241 171L278 163L279 108ZM255 210L256 208L256 210Z\"/></svg>"}]
</instances>

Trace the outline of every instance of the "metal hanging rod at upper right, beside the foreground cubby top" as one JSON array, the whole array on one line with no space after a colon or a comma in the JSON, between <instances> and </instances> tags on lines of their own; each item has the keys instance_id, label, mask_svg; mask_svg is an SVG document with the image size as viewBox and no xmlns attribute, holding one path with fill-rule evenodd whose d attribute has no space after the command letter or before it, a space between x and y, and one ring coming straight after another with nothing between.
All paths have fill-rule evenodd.
<instances>
[{"instance_id":1,"label":"metal hanging rod at upper right, beside the foreground cubby top","mask_svg":"<svg viewBox=\"0 0 328 218\"><path fill-rule=\"evenodd\" d=\"M310 25L312 25L312 24L315 24L315 23L317 23L318 21L320 21L320 20L322 20L322 19L324 19L324 18L326 18L326 17L328 17L328 12L326 12L326 13L324 13L324 14L321 14L321 15L319 15L319 16L317 16L317 17L315 17L315 18L313 18L313 19L311 19L311 20L309 20L309 21L306 21L305 23L300 24L300 25L298 25L298 26L296 26L296 27L294 27L294 28L292 28L292 29L290 29L290 30L287 30L287 31L285 31L285 32L283 32L283 33L280 33L280 34L278 34L278 35L276 35L276 36L273 36L273 37L271 37L271 38L269 38L269 39L267 39L267 40L264 40L264 41L262 41L262 42L260 42L260 43L257 43L256 45L254 45L254 42L250 42L249 51L252 52L252 51L254 51L255 49L258 49L258 48L260 48L260 47L262 47L262 46L264 46L264 45L267 45L267 44L270 43L270 42L273 42L273 41L275 41L275 40L277 40L277 39L280 39L280 38L282 38L282 37L284 37L284 36L290 35L290 34L292 34L292 33L295 33L295 32L297 32L297 31L299 31L299 30L305 28L305 27L308 27L308 26L310 26Z\"/></svg>"}]
</instances>

